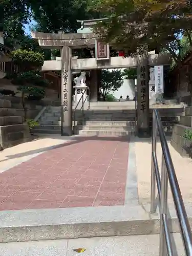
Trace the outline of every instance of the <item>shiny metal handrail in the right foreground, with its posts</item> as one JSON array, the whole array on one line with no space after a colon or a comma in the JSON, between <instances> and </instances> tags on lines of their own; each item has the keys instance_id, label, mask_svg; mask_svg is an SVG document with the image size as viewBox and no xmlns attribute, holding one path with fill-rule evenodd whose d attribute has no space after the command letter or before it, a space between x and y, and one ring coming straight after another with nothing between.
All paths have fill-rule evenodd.
<instances>
[{"instance_id":1,"label":"shiny metal handrail in the right foreground, with its posts","mask_svg":"<svg viewBox=\"0 0 192 256\"><path fill-rule=\"evenodd\" d=\"M157 161L157 131L162 148L161 178ZM172 191L176 214L179 220L181 238L185 255L192 256L192 234L186 209L181 195L181 190L175 173L172 157L163 130L162 121L158 110L153 111L153 135L152 135L152 169L151 169L151 213L156 212L156 182L160 200L160 256L173 256L173 247L170 240L170 230L167 221L167 190L168 181Z\"/></svg>"}]
</instances>

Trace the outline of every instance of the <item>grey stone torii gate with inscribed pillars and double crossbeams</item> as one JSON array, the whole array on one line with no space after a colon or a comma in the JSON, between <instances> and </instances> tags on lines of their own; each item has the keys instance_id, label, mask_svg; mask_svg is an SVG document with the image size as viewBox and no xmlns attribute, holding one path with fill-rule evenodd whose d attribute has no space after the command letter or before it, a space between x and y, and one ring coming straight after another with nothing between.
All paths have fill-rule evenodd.
<instances>
[{"instance_id":1,"label":"grey stone torii gate with inscribed pillars and double crossbeams","mask_svg":"<svg viewBox=\"0 0 192 256\"><path fill-rule=\"evenodd\" d=\"M84 21L84 22L89 22ZM91 20L92 25L97 20ZM60 49L61 60L45 61L43 71L61 70L61 135L72 135L72 71L113 68L137 68L137 134L139 137L150 136L148 75L150 66L170 65L168 54L152 54L138 57L110 57L108 60L96 58L72 58L72 49L94 48L94 33L41 33L31 32L32 38L38 39L39 46L49 49Z\"/></svg>"}]
</instances>

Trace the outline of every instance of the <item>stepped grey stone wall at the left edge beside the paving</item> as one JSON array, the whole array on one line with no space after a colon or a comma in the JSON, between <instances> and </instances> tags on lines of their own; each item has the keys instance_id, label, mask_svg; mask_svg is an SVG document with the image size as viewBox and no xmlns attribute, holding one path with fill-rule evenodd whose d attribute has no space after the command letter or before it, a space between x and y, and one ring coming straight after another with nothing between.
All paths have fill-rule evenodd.
<instances>
[{"instance_id":1,"label":"stepped grey stone wall at the left edge beside the paving","mask_svg":"<svg viewBox=\"0 0 192 256\"><path fill-rule=\"evenodd\" d=\"M23 118L17 116L16 109L11 109L11 102L0 99L0 146L11 147L31 139L29 126Z\"/></svg>"}]
</instances>

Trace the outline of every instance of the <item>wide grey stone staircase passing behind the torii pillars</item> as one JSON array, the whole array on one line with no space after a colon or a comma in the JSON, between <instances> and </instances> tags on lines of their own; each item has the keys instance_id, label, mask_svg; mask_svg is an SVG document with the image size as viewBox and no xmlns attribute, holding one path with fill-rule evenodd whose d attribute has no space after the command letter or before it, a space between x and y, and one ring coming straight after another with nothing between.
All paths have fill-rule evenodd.
<instances>
[{"instance_id":1,"label":"wide grey stone staircase passing behind the torii pillars","mask_svg":"<svg viewBox=\"0 0 192 256\"><path fill-rule=\"evenodd\" d=\"M34 133L60 134L61 132L61 108L48 106L39 118L39 126L35 127ZM164 130L167 135L172 134L173 126L179 122L183 115L183 108L159 109ZM127 136L135 134L135 110L81 110L75 111L76 134L82 136ZM151 109L152 126L152 109ZM73 116L74 128L74 116Z\"/></svg>"}]
</instances>

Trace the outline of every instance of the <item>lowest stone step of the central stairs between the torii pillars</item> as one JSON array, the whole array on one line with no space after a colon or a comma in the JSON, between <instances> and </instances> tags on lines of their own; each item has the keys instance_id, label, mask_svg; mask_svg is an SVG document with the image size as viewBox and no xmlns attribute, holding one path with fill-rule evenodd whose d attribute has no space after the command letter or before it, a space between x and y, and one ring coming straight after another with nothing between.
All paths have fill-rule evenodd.
<instances>
[{"instance_id":1,"label":"lowest stone step of the central stairs between the torii pillars","mask_svg":"<svg viewBox=\"0 0 192 256\"><path fill-rule=\"evenodd\" d=\"M83 136L128 136L134 135L134 131L97 131L97 130L80 130L79 135Z\"/></svg>"}]
</instances>

